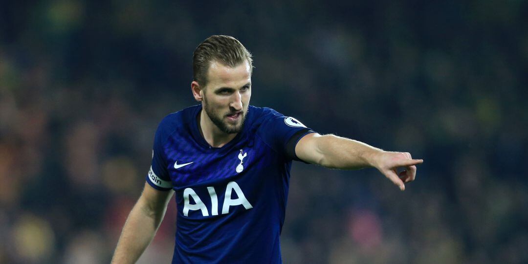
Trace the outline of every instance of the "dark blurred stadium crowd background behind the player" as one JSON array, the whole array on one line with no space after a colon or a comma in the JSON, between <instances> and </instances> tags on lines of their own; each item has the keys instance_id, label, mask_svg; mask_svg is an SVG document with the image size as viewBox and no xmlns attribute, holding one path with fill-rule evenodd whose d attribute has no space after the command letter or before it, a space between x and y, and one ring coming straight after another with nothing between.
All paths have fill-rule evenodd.
<instances>
[{"instance_id":1,"label":"dark blurred stadium crowd background behind the player","mask_svg":"<svg viewBox=\"0 0 528 264\"><path fill-rule=\"evenodd\" d=\"M0 263L110 260L213 34L253 53L252 105L425 160L405 192L295 163L284 262L528 262L528 2L188 2L2 1Z\"/></svg>"}]
</instances>

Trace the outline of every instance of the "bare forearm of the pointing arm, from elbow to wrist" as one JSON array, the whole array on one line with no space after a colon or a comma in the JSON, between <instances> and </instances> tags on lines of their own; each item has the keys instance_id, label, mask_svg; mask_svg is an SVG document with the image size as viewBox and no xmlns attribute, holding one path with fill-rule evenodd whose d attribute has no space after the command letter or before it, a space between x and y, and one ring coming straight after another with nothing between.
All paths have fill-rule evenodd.
<instances>
[{"instance_id":1,"label":"bare forearm of the pointing arm, from elbow to wrist","mask_svg":"<svg viewBox=\"0 0 528 264\"><path fill-rule=\"evenodd\" d=\"M334 135L320 136L317 140L320 161L327 168L360 169L375 167L375 157L383 152L357 140Z\"/></svg>"}]
</instances>

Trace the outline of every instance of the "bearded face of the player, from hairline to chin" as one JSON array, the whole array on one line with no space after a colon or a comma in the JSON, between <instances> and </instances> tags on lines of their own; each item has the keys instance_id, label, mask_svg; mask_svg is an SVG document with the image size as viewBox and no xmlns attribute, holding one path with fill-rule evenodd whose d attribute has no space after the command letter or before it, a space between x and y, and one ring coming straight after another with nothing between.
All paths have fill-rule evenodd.
<instances>
[{"instance_id":1,"label":"bearded face of the player, from hairline to chin","mask_svg":"<svg viewBox=\"0 0 528 264\"><path fill-rule=\"evenodd\" d=\"M249 63L246 61L231 68L213 61L208 70L208 81L201 89L205 113L224 133L239 133L251 98Z\"/></svg>"}]
</instances>

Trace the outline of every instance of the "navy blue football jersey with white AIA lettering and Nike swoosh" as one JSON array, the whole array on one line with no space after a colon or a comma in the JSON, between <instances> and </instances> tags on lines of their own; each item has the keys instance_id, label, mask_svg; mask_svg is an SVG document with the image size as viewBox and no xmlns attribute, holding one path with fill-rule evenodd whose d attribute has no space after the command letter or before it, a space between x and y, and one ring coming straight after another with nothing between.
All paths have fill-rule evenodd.
<instances>
[{"instance_id":1,"label":"navy blue football jersey with white AIA lettering and Nike swoosh","mask_svg":"<svg viewBox=\"0 0 528 264\"><path fill-rule=\"evenodd\" d=\"M312 130L270 108L249 106L223 147L201 136L201 105L165 117L154 138L150 186L175 191L173 263L280 263L295 145Z\"/></svg>"}]
</instances>

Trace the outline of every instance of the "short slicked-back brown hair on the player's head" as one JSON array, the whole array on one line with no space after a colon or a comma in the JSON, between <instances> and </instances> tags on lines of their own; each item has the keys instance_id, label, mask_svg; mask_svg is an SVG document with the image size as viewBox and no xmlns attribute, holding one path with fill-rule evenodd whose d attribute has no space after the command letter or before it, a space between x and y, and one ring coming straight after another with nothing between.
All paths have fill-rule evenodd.
<instances>
[{"instance_id":1,"label":"short slicked-back brown hair on the player's head","mask_svg":"<svg viewBox=\"0 0 528 264\"><path fill-rule=\"evenodd\" d=\"M201 86L206 86L207 72L211 61L218 61L231 68L235 68L248 61L253 73L253 59L251 53L232 36L213 35L196 47L193 53L193 78Z\"/></svg>"}]
</instances>

